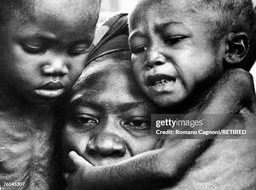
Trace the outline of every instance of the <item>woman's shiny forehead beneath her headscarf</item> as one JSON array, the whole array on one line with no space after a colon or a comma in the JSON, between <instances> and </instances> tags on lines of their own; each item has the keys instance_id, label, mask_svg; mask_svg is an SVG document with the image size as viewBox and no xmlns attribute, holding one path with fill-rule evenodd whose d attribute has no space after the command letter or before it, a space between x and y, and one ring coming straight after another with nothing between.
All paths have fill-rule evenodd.
<instances>
[{"instance_id":1,"label":"woman's shiny forehead beneath her headscarf","mask_svg":"<svg viewBox=\"0 0 256 190\"><path fill-rule=\"evenodd\" d=\"M120 96L125 97L120 101L147 100L136 83L131 61L120 60L116 56L116 53L112 53L112 56L102 56L102 59L97 59L87 66L73 86L71 94L83 94L87 98L97 98L97 101L114 100Z\"/></svg>"}]
</instances>

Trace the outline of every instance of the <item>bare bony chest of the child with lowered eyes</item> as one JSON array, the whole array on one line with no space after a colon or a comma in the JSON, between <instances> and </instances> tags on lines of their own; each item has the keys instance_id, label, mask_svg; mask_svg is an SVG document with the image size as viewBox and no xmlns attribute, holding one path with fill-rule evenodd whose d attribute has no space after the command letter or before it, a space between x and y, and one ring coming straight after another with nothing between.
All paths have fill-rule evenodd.
<instances>
[{"instance_id":1,"label":"bare bony chest of the child with lowered eyes","mask_svg":"<svg viewBox=\"0 0 256 190\"><path fill-rule=\"evenodd\" d=\"M12 96L3 97L3 94L0 100L1 187L54 189L58 166L54 162L55 122L51 106L32 105L26 99L23 104L17 104ZM7 187L4 182L24 184Z\"/></svg>"}]
</instances>

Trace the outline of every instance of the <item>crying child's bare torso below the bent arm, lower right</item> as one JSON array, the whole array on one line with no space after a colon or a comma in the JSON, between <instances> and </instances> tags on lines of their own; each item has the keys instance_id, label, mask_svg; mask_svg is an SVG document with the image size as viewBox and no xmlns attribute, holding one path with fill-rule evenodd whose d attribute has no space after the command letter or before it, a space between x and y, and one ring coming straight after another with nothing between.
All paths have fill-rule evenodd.
<instances>
[{"instance_id":1,"label":"crying child's bare torso below the bent arm, lower right","mask_svg":"<svg viewBox=\"0 0 256 190\"><path fill-rule=\"evenodd\" d=\"M255 140L215 140L173 190L253 189L256 160L252 150L255 149Z\"/></svg>"}]
</instances>

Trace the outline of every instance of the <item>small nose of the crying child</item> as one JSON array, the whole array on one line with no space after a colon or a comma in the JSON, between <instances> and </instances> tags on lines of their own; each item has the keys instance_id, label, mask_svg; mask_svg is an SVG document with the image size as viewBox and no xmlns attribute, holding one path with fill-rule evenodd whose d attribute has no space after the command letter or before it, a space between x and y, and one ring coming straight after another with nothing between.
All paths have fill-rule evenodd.
<instances>
[{"instance_id":1,"label":"small nose of the crying child","mask_svg":"<svg viewBox=\"0 0 256 190\"><path fill-rule=\"evenodd\" d=\"M148 51L148 58L144 63L146 69L151 69L155 66L163 65L166 62L164 55L159 53L157 50Z\"/></svg>"}]
</instances>

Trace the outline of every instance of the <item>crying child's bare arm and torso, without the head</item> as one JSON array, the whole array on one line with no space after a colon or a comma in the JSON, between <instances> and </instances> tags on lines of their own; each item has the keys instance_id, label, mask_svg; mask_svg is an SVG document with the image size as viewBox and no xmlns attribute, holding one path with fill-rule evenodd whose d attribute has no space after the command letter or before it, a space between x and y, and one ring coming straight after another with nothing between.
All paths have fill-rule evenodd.
<instances>
[{"instance_id":1,"label":"crying child's bare arm and torso, without the head","mask_svg":"<svg viewBox=\"0 0 256 190\"><path fill-rule=\"evenodd\" d=\"M234 81L236 82L234 83ZM226 99L223 99L227 91L229 95ZM244 92L247 92L247 94ZM256 96L251 75L241 69L235 69L225 73L215 86L214 91L207 96L200 110L204 114L235 114L241 111L254 114L255 102ZM218 124L225 123L225 119L223 118ZM253 117L248 118L248 121L251 119ZM214 129L219 129L220 125L218 124L214 126ZM221 146L223 151L234 151L233 155L228 156L219 152L216 157L212 158L211 150L218 149L219 146ZM255 156L253 157L253 151L251 151L255 149L255 140L233 139L210 142L205 139L181 139L166 141L160 149L142 153L117 164L101 167L92 167L90 163L75 152L70 152L69 157L74 164L74 173L64 177L66 177L67 183L70 185L67 190L83 188L124 189L124 187L129 190L156 189L164 184L169 187L174 185L174 189L179 189L179 187L190 189L189 183L193 183L194 189L202 187L204 183L207 185L212 185L213 183L218 188L225 187L223 185L229 185L230 189L232 189L237 187L237 184L233 183L233 181L227 183L225 180L231 176L233 176L233 179L240 179L239 187L243 189L243 187L253 187L255 183L253 180L255 176L252 173L255 171L256 160ZM210 170L210 168L216 167L220 160L223 160L223 157L225 162L230 162L230 160L236 157L236 163L242 163L232 169L235 173L232 173L232 171L224 172L220 176L220 181L212 181L212 177L217 177L219 173L214 173L214 170ZM244 162L245 158L248 162ZM192 167L194 164L195 167ZM192 173L189 172L191 167L193 169ZM205 173L205 170L201 169L201 167L209 168L209 171ZM245 168L248 169L245 170ZM222 169L223 171L228 171L230 167L223 167ZM185 175L187 172L188 174ZM243 173L242 176L241 173ZM206 180L194 182L191 176L197 174L204 175ZM184 179L182 178L183 175L185 175ZM243 180L241 180L241 177ZM176 183L179 185L175 186Z\"/></svg>"}]
</instances>

